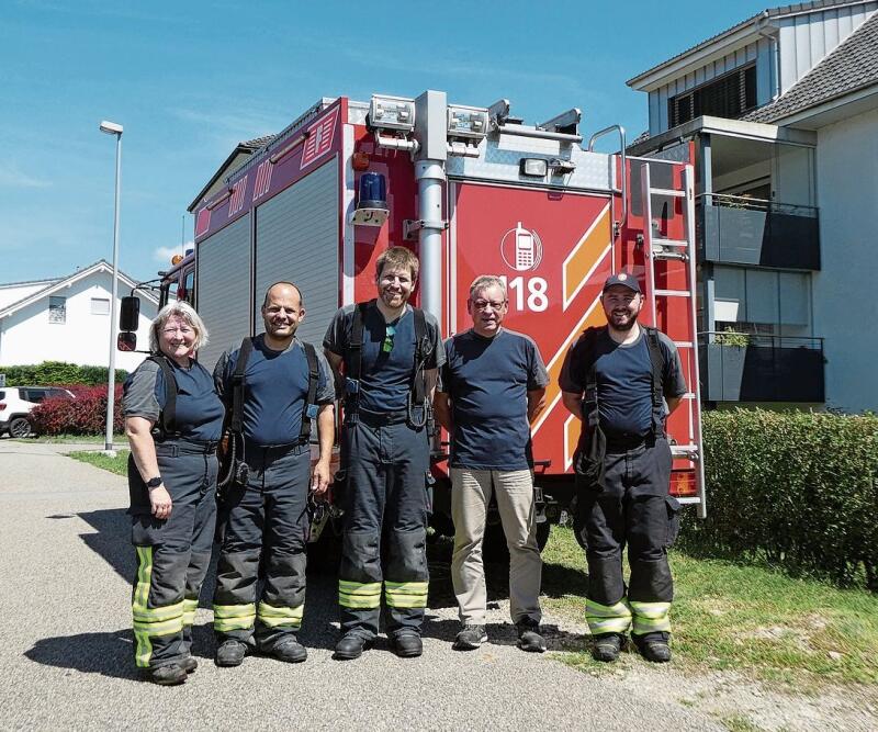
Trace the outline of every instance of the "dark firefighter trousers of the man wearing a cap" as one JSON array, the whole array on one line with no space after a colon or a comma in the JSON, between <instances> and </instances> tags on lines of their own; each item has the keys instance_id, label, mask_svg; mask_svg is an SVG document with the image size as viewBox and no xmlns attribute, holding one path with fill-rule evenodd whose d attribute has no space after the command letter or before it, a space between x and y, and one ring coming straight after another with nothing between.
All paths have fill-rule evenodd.
<instances>
[{"instance_id":1,"label":"dark firefighter trousers of the man wearing a cap","mask_svg":"<svg viewBox=\"0 0 878 732\"><path fill-rule=\"evenodd\" d=\"M604 487L577 475L576 531L586 544L586 619L593 635L667 639L674 584L667 548L678 531L679 503L668 495L671 448L646 438L628 449L607 447ZM622 550L631 576L626 592Z\"/></svg>"}]
</instances>

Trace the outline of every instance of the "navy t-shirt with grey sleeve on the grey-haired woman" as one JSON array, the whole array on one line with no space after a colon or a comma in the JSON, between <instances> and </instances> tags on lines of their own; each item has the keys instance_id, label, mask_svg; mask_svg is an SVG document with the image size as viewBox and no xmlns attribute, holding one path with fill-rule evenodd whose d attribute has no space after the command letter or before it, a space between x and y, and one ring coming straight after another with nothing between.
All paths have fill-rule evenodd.
<instances>
[{"instance_id":1,"label":"navy t-shirt with grey sleeve on the grey-haired woman","mask_svg":"<svg viewBox=\"0 0 878 732\"><path fill-rule=\"evenodd\" d=\"M216 441L222 436L225 409L213 379L198 361L188 369L168 362L177 382L176 430L187 440ZM155 361L144 361L126 380L122 410L126 417L158 421L165 408L165 374Z\"/></svg>"}]
</instances>

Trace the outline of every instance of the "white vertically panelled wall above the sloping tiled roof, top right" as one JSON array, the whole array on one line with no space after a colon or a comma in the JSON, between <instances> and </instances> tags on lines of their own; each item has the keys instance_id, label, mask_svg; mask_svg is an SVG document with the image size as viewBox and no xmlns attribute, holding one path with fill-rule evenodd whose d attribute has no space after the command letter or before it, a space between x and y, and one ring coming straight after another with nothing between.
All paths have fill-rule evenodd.
<instances>
[{"instance_id":1,"label":"white vertically panelled wall above the sloping tiled roof, top right","mask_svg":"<svg viewBox=\"0 0 878 732\"><path fill-rule=\"evenodd\" d=\"M865 2L774 21L779 33L780 93L808 74L876 10L878 2Z\"/></svg>"}]
</instances>

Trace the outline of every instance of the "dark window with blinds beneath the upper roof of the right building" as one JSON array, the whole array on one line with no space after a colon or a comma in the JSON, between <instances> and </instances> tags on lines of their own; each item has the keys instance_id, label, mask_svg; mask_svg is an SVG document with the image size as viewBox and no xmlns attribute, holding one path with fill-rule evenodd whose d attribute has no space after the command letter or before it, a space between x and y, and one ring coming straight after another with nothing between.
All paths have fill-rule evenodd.
<instances>
[{"instance_id":1,"label":"dark window with blinds beneath the upper roof of the right building","mask_svg":"<svg viewBox=\"0 0 878 732\"><path fill-rule=\"evenodd\" d=\"M756 108L756 65L742 66L667 100L668 127L702 114L736 120Z\"/></svg>"}]
</instances>

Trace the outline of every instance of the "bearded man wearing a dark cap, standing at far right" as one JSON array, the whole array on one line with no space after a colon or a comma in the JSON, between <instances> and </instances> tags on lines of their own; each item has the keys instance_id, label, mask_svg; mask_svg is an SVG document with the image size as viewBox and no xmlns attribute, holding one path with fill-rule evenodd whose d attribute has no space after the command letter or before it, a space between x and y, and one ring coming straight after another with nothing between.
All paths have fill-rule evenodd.
<instances>
[{"instance_id":1,"label":"bearded man wearing a dark cap, standing at far right","mask_svg":"<svg viewBox=\"0 0 878 732\"><path fill-rule=\"evenodd\" d=\"M664 427L686 383L673 341L638 324L644 299L633 274L608 278L600 302L607 325L579 337L561 372L564 406L583 423L574 470L586 619L597 661L616 661L630 629L640 653L663 663L671 660L674 597L667 549L679 526Z\"/></svg>"}]
</instances>

